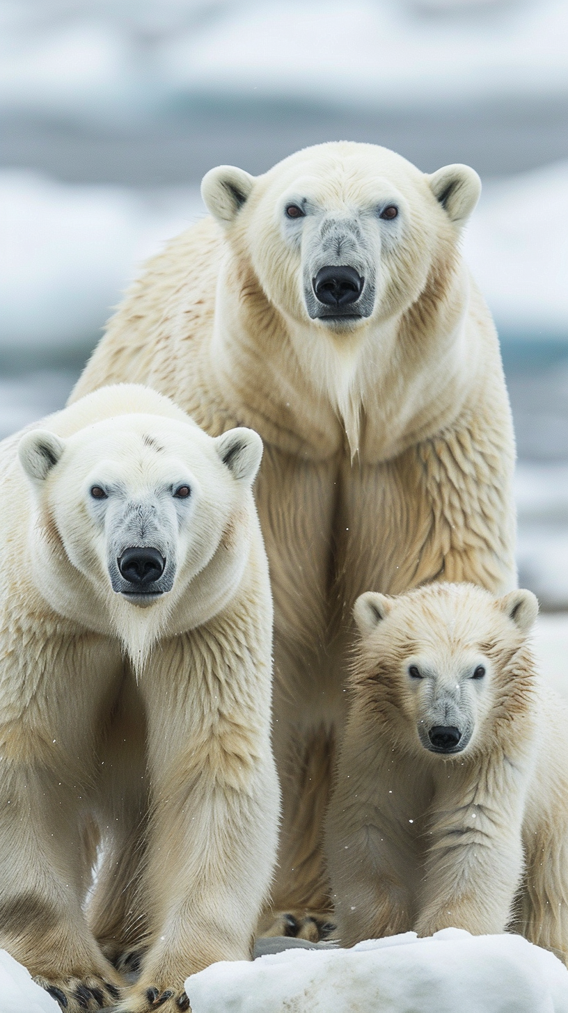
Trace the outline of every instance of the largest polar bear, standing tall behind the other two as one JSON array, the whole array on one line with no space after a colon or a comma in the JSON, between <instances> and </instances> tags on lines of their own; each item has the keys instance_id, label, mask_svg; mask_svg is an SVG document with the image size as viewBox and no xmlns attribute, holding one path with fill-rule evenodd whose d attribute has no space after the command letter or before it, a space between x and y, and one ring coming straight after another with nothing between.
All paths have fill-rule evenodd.
<instances>
[{"instance_id":1,"label":"largest polar bear, standing tall behind the other two","mask_svg":"<svg viewBox=\"0 0 568 1013\"><path fill-rule=\"evenodd\" d=\"M325 912L321 824L355 599L435 579L515 586L509 404L458 250L480 181L341 142L257 178L212 169L202 191L212 217L148 263L73 397L136 380L212 435L263 437L284 798L273 895Z\"/></svg>"}]
</instances>

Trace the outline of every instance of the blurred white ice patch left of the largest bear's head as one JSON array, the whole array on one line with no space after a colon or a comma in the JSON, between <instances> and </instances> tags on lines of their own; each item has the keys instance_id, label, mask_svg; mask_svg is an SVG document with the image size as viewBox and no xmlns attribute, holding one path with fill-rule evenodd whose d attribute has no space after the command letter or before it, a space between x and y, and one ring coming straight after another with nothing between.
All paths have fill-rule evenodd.
<instances>
[{"instance_id":1,"label":"blurred white ice patch left of the largest bear's head","mask_svg":"<svg viewBox=\"0 0 568 1013\"><path fill-rule=\"evenodd\" d=\"M0 349L94 345L142 261L200 213L195 188L145 193L0 172Z\"/></svg>"}]
</instances>

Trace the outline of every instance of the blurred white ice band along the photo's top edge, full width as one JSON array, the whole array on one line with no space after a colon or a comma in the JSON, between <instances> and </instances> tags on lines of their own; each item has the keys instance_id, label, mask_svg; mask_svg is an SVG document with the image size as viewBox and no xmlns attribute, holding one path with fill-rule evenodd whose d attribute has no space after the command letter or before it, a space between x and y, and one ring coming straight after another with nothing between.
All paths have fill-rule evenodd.
<instances>
[{"instance_id":1,"label":"blurred white ice band along the photo's top edge, full width","mask_svg":"<svg viewBox=\"0 0 568 1013\"><path fill-rule=\"evenodd\" d=\"M420 107L568 87L564 0L4 0L2 11L11 111L113 123L203 92Z\"/></svg>"}]
</instances>

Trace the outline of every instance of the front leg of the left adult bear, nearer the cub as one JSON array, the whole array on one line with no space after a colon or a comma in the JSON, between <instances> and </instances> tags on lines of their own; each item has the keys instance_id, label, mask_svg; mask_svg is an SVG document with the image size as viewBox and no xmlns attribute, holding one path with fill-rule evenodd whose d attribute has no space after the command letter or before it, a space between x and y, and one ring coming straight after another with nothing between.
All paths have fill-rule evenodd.
<instances>
[{"instance_id":1,"label":"front leg of the left adult bear, nearer the cub","mask_svg":"<svg viewBox=\"0 0 568 1013\"><path fill-rule=\"evenodd\" d=\"M214 647L218 666L218 640ZM202 680L195 653L190 664L182 643L174 649L183 682L172 685L176 666L166 646L163 667L140 680L151 781L140 890L148 950L121 1013L188 1009L189 975L216 960L248 959L276 859L279 788L264 659L262 678L243 677L241 653Z\"/></svg>"}]
</instances>

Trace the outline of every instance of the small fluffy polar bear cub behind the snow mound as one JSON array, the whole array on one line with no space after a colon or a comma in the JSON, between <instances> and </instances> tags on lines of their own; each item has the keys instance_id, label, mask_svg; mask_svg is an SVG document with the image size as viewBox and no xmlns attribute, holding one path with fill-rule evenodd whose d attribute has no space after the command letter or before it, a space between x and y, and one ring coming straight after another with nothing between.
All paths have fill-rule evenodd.
<instances>
[{"instance_id":1,"label":"small fluffy polar bear cub behind the snow mound","mask_svg":"<svg viewBox=\"0 0 568 1013\"><path fill-rule=\"evenodd\" d=\"M568 961L568 708L536 669L537 613L473 585L357 600L327 820L344 944L508 926Z\"/></svg>"}]
</instances>

